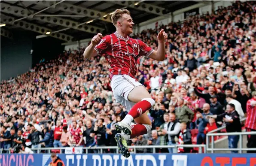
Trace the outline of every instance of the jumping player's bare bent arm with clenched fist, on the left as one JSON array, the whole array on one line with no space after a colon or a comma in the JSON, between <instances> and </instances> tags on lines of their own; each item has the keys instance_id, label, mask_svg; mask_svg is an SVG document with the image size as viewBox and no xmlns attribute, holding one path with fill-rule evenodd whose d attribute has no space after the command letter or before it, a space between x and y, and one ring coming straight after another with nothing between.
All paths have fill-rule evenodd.
<instances>
[{"instance_id":1,"label":"jumping player's bare bent arm with clenched fist, on the left","mask_svg":"<svg viewBox=\"0 0 256 166\"><path fill-rule=\"evenodd\" d=\"M98 33L91 39L91 44L88 45L88 47L86 47L84 51L85 58L91 58L98 55L98 52L94 48L96 45L98 45L101 42L102 37L103 37L102 34Z\"/></svg>"}]
</instances>

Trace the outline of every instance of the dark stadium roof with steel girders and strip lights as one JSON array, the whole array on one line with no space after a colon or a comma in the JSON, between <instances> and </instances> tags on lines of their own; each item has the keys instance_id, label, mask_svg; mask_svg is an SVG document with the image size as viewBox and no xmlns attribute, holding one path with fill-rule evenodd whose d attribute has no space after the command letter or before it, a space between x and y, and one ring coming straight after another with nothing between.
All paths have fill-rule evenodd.
<instances>
[{"instance_id":1,"label":"dark stadium roof with steel girders and strip lights","mask_svg":"<svg viewBox=\"0 0 256 166\"><path fill-rule=\"evenodd\" d=\"M96 33L112 33L111 13L128 9L135 24L158 16L170 17L171 12L210 1L11 1L0 2L1 28L8 36L13 28L32 30L66 42L90 38Z\"/></svg>"}]
</instances>

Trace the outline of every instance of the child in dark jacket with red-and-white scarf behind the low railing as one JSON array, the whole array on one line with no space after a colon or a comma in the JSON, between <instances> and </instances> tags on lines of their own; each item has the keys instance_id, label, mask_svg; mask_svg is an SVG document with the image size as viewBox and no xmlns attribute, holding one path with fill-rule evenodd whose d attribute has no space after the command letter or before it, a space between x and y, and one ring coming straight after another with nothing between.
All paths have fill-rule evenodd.
<instances>
[{"instance_id":1,"label":"child in dark jacket with red-and-white scarf behind the low railing","mask_svg":"<svg viewBox=\"0 0 256 166\"><path fill-rule=\"evenodd\" d=\"M187 130L186 123L180 124L180 134L177 142L178 142L178 145L192 144L191 133ZM178 153L190 153L191 149L192 148L178 147Z\"/></svg>"}]
</instances>

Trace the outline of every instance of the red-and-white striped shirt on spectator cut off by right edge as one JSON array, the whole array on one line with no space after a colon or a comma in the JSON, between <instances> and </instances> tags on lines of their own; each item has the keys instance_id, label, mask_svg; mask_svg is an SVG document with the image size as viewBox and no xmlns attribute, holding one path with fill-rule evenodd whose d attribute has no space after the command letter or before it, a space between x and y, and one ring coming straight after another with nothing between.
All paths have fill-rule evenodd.
<instances>
[{"instance_id":1,"label":"red-and-white striped shirt on spectator cut off by right edge","mask_svg":"<svg viewBox=\"0 0 256 166\"><path fill-rule=\"evenodd\" d=\"M248 100L246 104L247 118L245 127L256 130L256 106L252 106L252 101L256 101L256 99L252 98Z\"/></svg>"}]
</instances>

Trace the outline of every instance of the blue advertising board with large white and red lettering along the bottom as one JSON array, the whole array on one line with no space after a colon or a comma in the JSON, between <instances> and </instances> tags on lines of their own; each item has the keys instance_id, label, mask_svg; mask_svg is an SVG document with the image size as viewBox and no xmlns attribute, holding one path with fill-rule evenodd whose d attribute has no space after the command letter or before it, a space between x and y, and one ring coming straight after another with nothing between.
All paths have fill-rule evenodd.
<instances>
[{"instance_id":1,"label":"blue advertising board with large white and red lettering along the bottom","mask_svg":"<svg viewBox=\"0 0 256 166\"><path fill-rule=\"evenodd\" d=\"M65 166L256 166L256 154L58 154ZM49 166L50 154L1 154L0 166Z\"/></svg>"}]
</instances>

